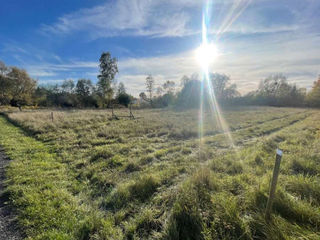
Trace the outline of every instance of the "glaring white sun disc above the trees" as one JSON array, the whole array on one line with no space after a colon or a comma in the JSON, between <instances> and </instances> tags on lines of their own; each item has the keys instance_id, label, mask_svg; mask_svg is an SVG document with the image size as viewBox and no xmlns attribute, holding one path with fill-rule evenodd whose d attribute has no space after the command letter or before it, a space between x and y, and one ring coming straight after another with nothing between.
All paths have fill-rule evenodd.
<instances>
[{"instance_id":1,"label":"glaring white sun disc above the trees","mask_svg":"<svg viewBox=\"0 0 320 240\"><path fill-rule=\"evenodd\" d=\"M202 44L195 50L196 60L203 68L208 67L216 56L217 47L213 43Z\"/></svg>"}]
</instances>

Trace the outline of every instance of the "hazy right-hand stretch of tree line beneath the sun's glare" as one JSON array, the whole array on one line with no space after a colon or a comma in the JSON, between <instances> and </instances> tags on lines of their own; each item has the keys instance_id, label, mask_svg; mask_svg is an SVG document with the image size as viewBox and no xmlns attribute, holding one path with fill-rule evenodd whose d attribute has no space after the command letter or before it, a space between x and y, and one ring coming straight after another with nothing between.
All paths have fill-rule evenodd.
<instances>
[{"instance_id":1,"label":"hazy right-hand stretch of tree line beneath the sun's glare","mask_svg":"<svg viewBox=\"0 0 320 240\"><path fill-rule=\"evenodd\" d=\"M320 75L309 91L295 83L289 83L283 74L270 75L260 80L256 90L243 96L229 76L218 72L209 73L208 81L201 81L197 73L190 77L183 75L178 90L174 90L173 81L166 81L162 87L154 89L150 79L153 79L151 75L146 79L147 94L141 92L139 96L150 101L152 106L198 107L200 101L205 106L215 100L220 105L320 107Z\"/></svg>"}]
</instances>

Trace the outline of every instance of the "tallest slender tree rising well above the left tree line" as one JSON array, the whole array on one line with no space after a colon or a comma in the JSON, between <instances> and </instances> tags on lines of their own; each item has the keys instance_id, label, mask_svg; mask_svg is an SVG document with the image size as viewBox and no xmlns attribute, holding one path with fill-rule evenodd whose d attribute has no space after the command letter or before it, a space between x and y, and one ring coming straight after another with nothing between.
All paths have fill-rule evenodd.
<instances>
[{"instance_id":1,"label":"tallest slender tree rising well above the left tree line","mask_svg":"<svg viewBox=\"0 0 320 240\"><path fill-rule=\"evenodd\" d=\"M102 102L102 107L106 103L107 107L113 96L113 85L116 83L115 75L118 73L116 57L111 57L110 52L102 52L99 59L99 74L97 82L97 92Z\"/></svg>"}]
</instances>

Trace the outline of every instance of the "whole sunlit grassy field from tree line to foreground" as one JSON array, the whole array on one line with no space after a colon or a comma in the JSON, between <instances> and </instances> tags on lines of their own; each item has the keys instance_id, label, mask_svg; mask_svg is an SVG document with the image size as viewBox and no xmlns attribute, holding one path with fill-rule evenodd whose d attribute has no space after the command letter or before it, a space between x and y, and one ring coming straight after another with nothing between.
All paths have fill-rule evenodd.
<instances>
[{"instance_id":1,"label":"whole sunlit grassy field from tree line to foreground","mask_svg":"<svg viewBox=\"0 0 320 240\"><path fill-rule=\"evenodd\" d=\"M30 239L320 239L320 110L225 109L227 132L209 111L2 112L5 194Z\"/></svg>"}]
</instances>

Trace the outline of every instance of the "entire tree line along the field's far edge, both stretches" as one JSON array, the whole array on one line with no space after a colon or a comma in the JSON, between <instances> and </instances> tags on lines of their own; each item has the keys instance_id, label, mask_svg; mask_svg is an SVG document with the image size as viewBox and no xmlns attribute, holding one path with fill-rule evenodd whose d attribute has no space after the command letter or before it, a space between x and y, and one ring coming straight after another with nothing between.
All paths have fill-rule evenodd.
<instances>
[{"instance_id":1,"label":"entire tree line along the field's far edge, both stretches","mask_svg":"<svg viewBox=\"0 0 320 240\"><path fill-rule=\"evenodd\" d=\"M110 52L102 52L99 58L98 81L90 79L66 79L61 84L37 84L26 70L7 66L0 61L0 105L21 107L65 106L65 107L108 107L111 102L127 105L133 96L126 92L123 82L117 83L117 58ZM151 107L180 105L198 107L209 105L212 99L221 105L269 105L269 106L312 106L320 107L320 75L312 88L289 83L283 74L267 76L260 80L258 88L241 96L230 76L210 72L208 81L202 81L195 72L183 75L180 85L165 81L155 87L155 78L149 74L145 79L145 92L139 94Z\"/></svg>"}]
</instances>

